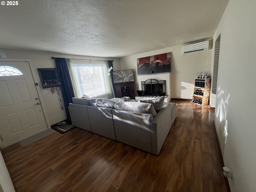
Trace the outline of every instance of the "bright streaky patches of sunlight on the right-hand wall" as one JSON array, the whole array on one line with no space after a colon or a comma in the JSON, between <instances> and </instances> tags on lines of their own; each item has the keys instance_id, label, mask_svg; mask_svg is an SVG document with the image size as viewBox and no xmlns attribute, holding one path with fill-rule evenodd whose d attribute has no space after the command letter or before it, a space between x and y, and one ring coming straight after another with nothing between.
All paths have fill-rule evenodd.
<instances>
[{"instance_id":1,"label":"bright streaky patches of sunlight on the right-hand wall","mask_svg":"<svg viewBox=\"0 0 256 192\"><path fill-rule=\"evenodd\" d=\"M228 138L227 108L229 98L230 93L227 94L226 90L222 90L219 86L216 98L217 105L215 109L215 116L218 122L215 122L215 124L218 124L218 126L216 126L216 131L218 134L220 147L222 149L222 154L224 154L224 148Z\"/></svg>"}]
</instances>

